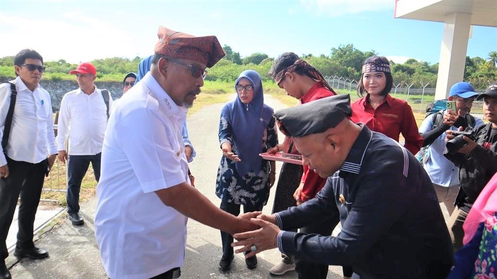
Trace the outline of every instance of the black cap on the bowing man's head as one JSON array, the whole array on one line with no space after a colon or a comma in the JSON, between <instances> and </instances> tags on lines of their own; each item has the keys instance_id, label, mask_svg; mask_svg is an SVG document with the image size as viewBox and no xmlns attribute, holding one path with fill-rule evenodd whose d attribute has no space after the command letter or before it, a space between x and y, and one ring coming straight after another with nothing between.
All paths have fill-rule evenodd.
<instances>
[{"instance_id":1,"label":"black cap on the bowing man's head","mask_svg":"<svg viewBox=\"0 0 497 279\"><path fill-rule=\"evenodd\" d=\"M323 133L352 116L350 96L339 94L274 113L279 128L289 137Z\"/></svg>"}]
</instances>

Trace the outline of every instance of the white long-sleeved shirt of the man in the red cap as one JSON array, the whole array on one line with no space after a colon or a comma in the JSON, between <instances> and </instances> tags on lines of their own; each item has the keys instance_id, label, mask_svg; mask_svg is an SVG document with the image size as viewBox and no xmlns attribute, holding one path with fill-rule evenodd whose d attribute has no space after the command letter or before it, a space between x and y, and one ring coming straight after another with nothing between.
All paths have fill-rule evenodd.
<instances>
[{"instance_id":1,"label":"white long-sleeved shirt of the man in the red cap","mask_svg":"<svg viewBox=\"0 0 497 279\"><path fill-rule=\"evenodd\" d=\"M109 92L109 114L112 97ZM95 155L102 152L103 135L107 126L107 107L100 89L87 95L81 88L64 95L61 102L57 133L58 150L69 155ZM69 136L69 150L65 146Z\"/></svg>"}]
</instances>

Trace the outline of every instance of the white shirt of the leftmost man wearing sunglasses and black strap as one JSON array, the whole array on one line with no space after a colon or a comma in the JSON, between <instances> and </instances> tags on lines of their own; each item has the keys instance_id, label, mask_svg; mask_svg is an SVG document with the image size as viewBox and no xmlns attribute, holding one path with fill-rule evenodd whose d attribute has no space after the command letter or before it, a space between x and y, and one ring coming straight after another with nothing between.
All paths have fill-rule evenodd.
<instances>
[{"instance_id":1,"label":"white shirt of the leftmost man wearing sunglasses and black strap","mask_svg":"<svg viewBox=\"0 0 497 279\"><path fill-rule=\"evenodd\" d=\"M39 84L31 92L19 76L10 82L15 84L17 98L5 148L7 156L15 161L39 163L48 155L57 154L50 95ZM0 85L0 140L10 105L10 92L10 84ZM0 166L6 163L0 146Z\"/></svg>"}]
</instances>

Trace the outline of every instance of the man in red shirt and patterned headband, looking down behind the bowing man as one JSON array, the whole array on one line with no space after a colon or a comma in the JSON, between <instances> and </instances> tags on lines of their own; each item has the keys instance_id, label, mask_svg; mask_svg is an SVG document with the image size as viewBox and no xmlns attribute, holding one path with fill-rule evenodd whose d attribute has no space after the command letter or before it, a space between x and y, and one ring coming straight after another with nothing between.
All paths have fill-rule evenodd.
<instances>
[{"instance_id":1,"label":"man in red shirt and patterned headband, looking down behind the bowing man","mask_svg":"<svg viewBox=\"0 0 497 279\"><path fill-rule=\"evenodd\" d=\"M306 61L300 59L295 53L283 53L273 64L269 74L276 84L285 89L288 95L299 99L299 104L305 104L321 98L336 95L323 75ZM291 139L285 138L285 143ZM288 144L288 143L287 143ZM293 145L292 143L289 143ZM281 144L268 150L270 153L282 151ZM312 171L308 166L304 166L304 173L300 185L296 189L293 197L297 205L304 203L316 196L316 194L325 186L326 179L321 178L317 173ZM283 185L290 187L290 185ZM278 185L279 187L279 185ZM278 193L278 192L277 192ZM275 197L275 200L279 197ZM295 201L288 201L288 207L295 206ZM328 220L312 226L301 228L301 232L318 233L321 235L331 235L333 227ZM336 222L334 222L336 223ZM282 263L274 266L269 272L273 275L283 275L287 271L293 270L294 264L288 257L283 257ZM302 262L296 259L295 270L299 279L326 279L328 266L317 265L309 262Z\"/></svg>"}]
</instances>

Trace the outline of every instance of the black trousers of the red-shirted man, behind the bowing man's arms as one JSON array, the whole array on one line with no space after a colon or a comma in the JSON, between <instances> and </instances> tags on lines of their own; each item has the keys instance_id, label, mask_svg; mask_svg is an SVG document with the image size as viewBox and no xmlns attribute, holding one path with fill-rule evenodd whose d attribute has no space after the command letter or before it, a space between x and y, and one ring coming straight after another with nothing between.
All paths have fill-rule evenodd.
<instances>
[{"instance_id":1,"label":"black trousers of the red-shirted man, behind the bowing man's arms","mask_svg":"<svg viewBox=\"0 0 497 279\"><path fill-rule=\"evenodd\" d=\"M322 222L303 227L300 229L302 233L317 233L324 236L330 236L333 232L336 222L331 219L326 219ZM320 265L311 262L304 262L295 257L295 271L299 279L326 279L328 275L328 265Z\"/></svg>"}]
</instances>

